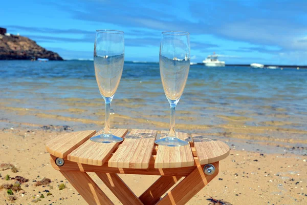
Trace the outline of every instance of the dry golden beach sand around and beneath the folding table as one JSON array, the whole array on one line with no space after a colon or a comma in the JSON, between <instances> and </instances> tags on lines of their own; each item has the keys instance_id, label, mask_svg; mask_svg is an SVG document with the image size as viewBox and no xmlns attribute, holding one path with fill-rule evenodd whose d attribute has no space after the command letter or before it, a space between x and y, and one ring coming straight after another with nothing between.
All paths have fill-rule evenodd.
<instances>
[{"instance_id":1,"label":"dry golden beach sand around and beneath the folding table","mask_svg":"<svg viewBox=\"0 0 307 205\"><path fill-rule=\"evenodd\" d=\"M45 150L48 139L67 131L42 130L34 126L33 129L14 127L0 132L0 163L12 163L19 170L17 173L0 170L0 185L14 183L14 180L5 180L7 174L29 179L29 182L21 185L24 194L14 192L17 197L14 202L8 201L5 189L0 190L1 204L86 204L69 182L51 167L49 154ZM307 156L302 155L262 154L232 149L230 155L221 161L217 177L188 204L209 204L210 197L229 204L307 204L306 159ZM115 204L121 204L95 174L90 176ZM158 178L120 176L138 196ZM44 177L51 179L50 185L35 187L35 180ZM64 183L66 188L59 190L60 183ZM52 195L47 196L45 190ZM41 194L45 198L37 203L32 202Z\"/></svg>"}]
</instances>

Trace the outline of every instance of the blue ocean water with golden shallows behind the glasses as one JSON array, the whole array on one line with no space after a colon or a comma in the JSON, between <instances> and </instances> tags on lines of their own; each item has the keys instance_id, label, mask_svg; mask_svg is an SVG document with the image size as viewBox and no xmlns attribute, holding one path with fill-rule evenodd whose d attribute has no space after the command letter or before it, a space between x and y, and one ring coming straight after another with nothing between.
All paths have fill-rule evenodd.
<instances>
[{"instance_id":1,"label":"blue ocean water with golden shallows behind the glasses","mask_svg":"<svg viewBox=\"0 0 307 205\"><path fill-rule=\"evenodd\" d=\"M102 126L93 61L0 61L0 80L3 120ZM304 144L306 105L307 69L193 65L177 107L177 130ZM159 64L125 62L112 108L126 119L116 127L167 129Z\"/></svg>"}]
</instances>

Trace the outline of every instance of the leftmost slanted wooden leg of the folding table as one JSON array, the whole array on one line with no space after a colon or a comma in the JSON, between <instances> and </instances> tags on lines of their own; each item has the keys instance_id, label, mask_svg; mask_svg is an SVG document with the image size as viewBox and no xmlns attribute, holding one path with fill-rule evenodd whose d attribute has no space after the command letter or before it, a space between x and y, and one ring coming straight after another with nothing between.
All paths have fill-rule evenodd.
<instances>
[{"instance_id":1,"label":"leftmost slanted wooden leg of the folding table","mask_svg":"<svg viewBox=\"0 0 307 205\"><path fill-rule=\"evenodd\" d=\"M61 171L77 192L91 205L114 204L85 172Z\"/></svg>"}]
</instances>

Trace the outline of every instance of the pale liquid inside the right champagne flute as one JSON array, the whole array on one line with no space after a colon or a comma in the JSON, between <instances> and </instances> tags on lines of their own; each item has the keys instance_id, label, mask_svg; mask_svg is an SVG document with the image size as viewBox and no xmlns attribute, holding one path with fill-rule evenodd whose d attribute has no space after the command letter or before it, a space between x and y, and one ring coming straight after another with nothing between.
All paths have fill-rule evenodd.
<instances>
[{"instance_id":1,"label":"pale liquid inside the right champagne flute","mask_svg":"<svg viewBox=\"0 0 307 205\"><path fill-rule=\"evenodd\" d=\"M165 95L170 100L181 97L187 83L190 59L172 60L160 55L160 75Z\"/></svg>"}]
</instances>

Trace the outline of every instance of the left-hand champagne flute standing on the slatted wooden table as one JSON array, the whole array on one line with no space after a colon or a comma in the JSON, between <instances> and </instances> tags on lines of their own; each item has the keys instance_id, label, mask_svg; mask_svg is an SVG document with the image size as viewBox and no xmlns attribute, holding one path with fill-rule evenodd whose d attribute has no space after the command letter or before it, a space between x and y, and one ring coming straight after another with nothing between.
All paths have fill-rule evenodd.
<instances>
[{"instance_id":1,"label":"left-hand champagne flute standing on the slatted wooden table","mask_svg":"<svg viewBox=\"0 0 307 205\"><path fill-rule=\"evenodd\" d=\"M112 135L109 115L111 102L123 72L124 50L124 32L105 29L96 31L94 67L98 88L105 101L105 122L103 133L92 137L92 141L111 143L123 140Z\"/></svg>"}]
</instances>

